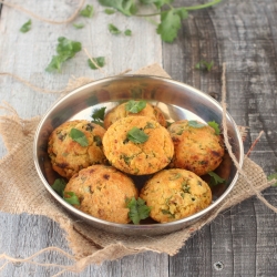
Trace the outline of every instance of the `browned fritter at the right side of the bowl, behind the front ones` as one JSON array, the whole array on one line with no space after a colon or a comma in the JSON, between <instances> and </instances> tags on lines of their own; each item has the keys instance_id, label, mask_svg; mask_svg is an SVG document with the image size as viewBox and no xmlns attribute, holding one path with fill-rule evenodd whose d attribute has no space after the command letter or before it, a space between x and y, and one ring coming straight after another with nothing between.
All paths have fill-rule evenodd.
<instances>
[{"instance_id":1,"label":"browned fritter at the right side of the bowl, behind the front ones","mask_svg":"<svg viewBox=\"0 0 277 277\"><path fill-rule=\"evenodd\" d=\"M168 132L175 153L170 166L192 171L201 176L220 164L224 144L213 127L199 124L201 127L194 127L187 120L176 121L168 127Z\"/></svg>"}]
</instances>

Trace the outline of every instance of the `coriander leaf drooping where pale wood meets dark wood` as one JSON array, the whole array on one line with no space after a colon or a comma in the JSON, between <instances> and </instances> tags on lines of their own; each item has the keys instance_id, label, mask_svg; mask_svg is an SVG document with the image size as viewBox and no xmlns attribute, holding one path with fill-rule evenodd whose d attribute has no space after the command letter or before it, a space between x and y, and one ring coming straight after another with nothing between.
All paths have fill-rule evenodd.
<instances>
[{"instance_id":1,"label":"coriander leaf drooping where pale wood meets dark wood","mask_svg":"<svg viewBox=\"0 0 277 277\"><path fill-rule=\"evenodd\" d=\"M175 9L172 9L161 13L161 23L158 24L156 32L161 34L163 41L173 42L173 40L177 37L179 28L179 12L176 12Z\"/></svg>"}]
</instances>

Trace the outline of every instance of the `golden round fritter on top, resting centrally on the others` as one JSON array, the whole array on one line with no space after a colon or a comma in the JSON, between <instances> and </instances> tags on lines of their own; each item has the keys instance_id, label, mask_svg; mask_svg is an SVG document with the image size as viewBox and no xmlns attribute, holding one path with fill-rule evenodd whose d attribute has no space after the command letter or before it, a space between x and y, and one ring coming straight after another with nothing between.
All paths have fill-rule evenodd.
<instances>
[{"instance_id":1,"label":"golden round fritter on top, resting centrally on the others","mask_svg":"<svg viewBox=\"0 0 277 277\"><path fill-rule=\"evenodd\" d=\"M142 130L148 140L134 143L127 140L133 127ZM133 175L152 174L171 162L174 146L170 133L158 122L146 116L117 120L103 137L104 154L116 168Z\"/></svg>"}]
</instances>

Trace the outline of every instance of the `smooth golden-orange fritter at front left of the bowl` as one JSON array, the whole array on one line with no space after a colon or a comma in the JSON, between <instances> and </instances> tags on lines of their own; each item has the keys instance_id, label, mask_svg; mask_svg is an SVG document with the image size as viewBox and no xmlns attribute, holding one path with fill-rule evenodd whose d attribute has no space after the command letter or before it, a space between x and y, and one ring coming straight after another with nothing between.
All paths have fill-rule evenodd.
<instances>
[{"instance_id":1,"label":"smooth golden-orange fritter at front left of the bowl","mask_svg":"<svg viewBox=\"0 0 277 277\"><path fill-rule=\"evenodd\" d=\"M126 201L137 198L133 181L112 166L92 165L80 171L66 184L64 192L74 192L80 211L94 217L126 224L129 208Z\"/></svg>"}]
</instances>

